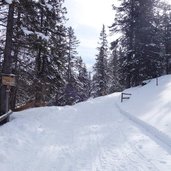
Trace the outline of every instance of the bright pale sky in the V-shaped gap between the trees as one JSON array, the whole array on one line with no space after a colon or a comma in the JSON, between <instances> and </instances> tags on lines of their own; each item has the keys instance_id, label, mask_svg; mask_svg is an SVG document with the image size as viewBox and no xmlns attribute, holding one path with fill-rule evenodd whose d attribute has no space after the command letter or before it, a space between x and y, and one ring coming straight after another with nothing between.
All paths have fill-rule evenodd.
<instances>
[{"instance_id":1,"label":"bright pale sky in the V-shaped gap between the trees","mask_svg":"<svg viewBox=\"0 0 171 171\"><path fill-rule=\"evenodd\" d=\"M88 70L91 70L95 63L95 56L98 53L96 48L103 24L108 30L108 26L114 21L114 1L116 0L65 0L68 25L74 28L75 35L80 41L78 52Z\"/></svg>"}]
</instances>

